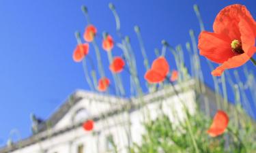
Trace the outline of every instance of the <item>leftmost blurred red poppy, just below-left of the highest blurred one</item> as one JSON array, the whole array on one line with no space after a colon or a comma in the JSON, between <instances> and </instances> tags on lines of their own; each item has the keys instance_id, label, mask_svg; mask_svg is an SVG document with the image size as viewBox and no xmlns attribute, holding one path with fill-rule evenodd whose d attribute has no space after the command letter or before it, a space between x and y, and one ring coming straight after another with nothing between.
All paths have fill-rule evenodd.
<instances>
[{"instance_id":1,"label":"leftmost blurred red poppy, just below-left of the highest blurred one","mask_svg":"<svg viewBox=\"0 0 256 153\"><path fill-rule=\"evenodd\" d=\"M75 62L81 62L83 58L88 54L89 52L89 44L79 44L76 46L76 49L73 53L73 60Z\"/></svg>"}]
</instances>

